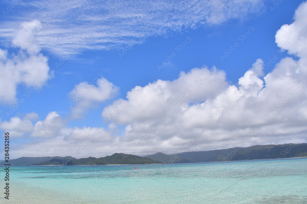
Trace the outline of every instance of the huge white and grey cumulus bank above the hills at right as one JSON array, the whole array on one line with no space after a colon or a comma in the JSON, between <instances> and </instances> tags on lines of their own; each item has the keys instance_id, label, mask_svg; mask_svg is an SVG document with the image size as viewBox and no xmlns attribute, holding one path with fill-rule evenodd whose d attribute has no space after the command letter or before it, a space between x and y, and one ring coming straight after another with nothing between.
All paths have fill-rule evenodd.
<instances>
[{"instance_id":1,"label":"huge white and grey cumulus bank above the hills at right","mask_svg":"<svg viewBox=\"0 0 307 204\"><path fill-rule=\"evenodd\" d=\"M306 8L307 2L302 3L294 22L283 25L276 34L277 45L298 59L283 58L263 78L263 61L255 59L236 86L227 82L225 72L206 67L181 72L173 81L157 80L144 87L136 86L127 92L126 99L103 109L102 117L110 121L108 130L76 127L64 136L51 138L48 145L37 145L36 150L49 147L47 152L63 151L62 156L76 150L77 157L100 157L114 152L172 154L306 142ZM291 44L287 44L288 39L293 40ZM86 85L80 83L73 93ZM18 121L11 124L17 126ZM121 127L123 134L113 132ZM95 135L95 139L81 147L87 134Z\"/></svg>"}]
</instances>

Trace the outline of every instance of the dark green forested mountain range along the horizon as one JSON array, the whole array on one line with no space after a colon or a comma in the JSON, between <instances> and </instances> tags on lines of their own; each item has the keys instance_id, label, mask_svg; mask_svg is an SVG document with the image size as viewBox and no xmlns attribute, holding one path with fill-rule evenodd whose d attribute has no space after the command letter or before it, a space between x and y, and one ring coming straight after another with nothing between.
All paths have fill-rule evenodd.
<instances>
[{"instance_id":1,"label":"dark green forested mountain range along the horizon","mask_svg":"<svg viewBox=\"0 0 307 204\"><path fill-rule=\"evenodd\" d=\"M139 157L132 154L115 153L111 156L95 158L74 157L21 157L10 160L11 165L124 165L124 164L170 164L196 163L211 161L238 161L253 159L278 159L307 157L307 143L282 145L255 145L251 147L234 147L223 150L182 152L178 154L156 154ZM4 160L0 165L4 165Z\"/></svg>"}]
</instances>

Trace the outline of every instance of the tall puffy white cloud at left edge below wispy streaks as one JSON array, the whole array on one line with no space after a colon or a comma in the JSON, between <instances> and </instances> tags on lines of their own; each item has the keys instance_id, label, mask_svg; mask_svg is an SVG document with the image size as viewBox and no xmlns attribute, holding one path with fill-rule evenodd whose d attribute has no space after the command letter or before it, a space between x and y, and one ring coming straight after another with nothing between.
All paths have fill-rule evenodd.
<instances>
[{"instance_id":1,"label":"tall puffy white cloud at left edge below wispy streaks","mask_svg":"<svg viewBox=\"0 0 307 204\"><path fill-rule=\"evenodd\" d=\"M20 48L15 54L8 54L0 49L0 101L12 104L16 101L17 87L41 88L52 77L49 71L48 58L39 53L40 46L33 37L35 30L41 27L39 21L23 22L14 33L13 46Z\"/></svg>"}]
</instances>

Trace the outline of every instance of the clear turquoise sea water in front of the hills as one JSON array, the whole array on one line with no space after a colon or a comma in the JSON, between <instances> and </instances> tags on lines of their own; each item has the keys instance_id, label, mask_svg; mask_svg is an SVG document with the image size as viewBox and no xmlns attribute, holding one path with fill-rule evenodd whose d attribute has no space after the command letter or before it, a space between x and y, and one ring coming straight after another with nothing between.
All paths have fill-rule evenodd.
<instances>
[{"instance_id":1,"label":"clear turquoise sea water in front of the hills","mask_svg":"<svg viewBox=\"0 0 307 204\"><path fill-rule=\"evenodd\" d=\"M3 170L0 177L3 191ZM10 166L9 187L10 200L3 198L3 191L0 203L297 204L307 203L307 158L172 165Z\"/></svg>"}]
</instances>

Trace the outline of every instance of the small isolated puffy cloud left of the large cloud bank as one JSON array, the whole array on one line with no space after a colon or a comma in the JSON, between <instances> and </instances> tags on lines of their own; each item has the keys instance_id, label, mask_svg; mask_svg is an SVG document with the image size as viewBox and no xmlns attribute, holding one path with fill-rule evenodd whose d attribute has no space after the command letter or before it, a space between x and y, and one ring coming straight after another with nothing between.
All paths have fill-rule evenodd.
<instances>
[{"instance_id":1,"label":"small isolated puffy cloud left of the large cloud bank","mask_svg":"<svg viewBox=\"0 0 307 204\"><path fill-rule=\"evenodd\" d=\"M72 118L84 117L83 114L90 107L95 106L98 102L112 98L118 90L118 87L114 86L113 83L104 77L98 79L96 85L81 82L69 93Z\"/></svg>"}]
</instances>

